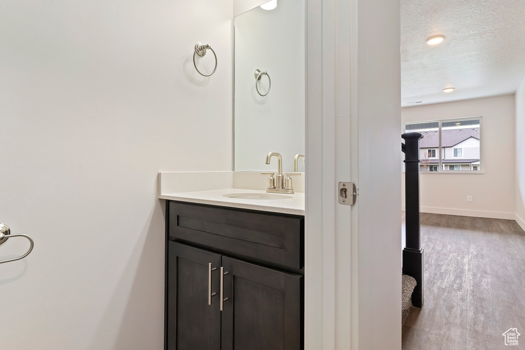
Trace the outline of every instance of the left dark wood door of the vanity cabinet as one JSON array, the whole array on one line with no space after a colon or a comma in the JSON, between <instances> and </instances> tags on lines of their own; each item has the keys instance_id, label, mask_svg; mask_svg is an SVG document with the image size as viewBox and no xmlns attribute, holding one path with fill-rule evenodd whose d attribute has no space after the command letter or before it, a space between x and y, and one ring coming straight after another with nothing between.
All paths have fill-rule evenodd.
<instances>
[{"instance_id":1,"label":"left dark wood door of the vanity cabinet","mask_svg":"<svg viewBox=\"0 0 525 350\"><path fill-rule=\"evenodd\" d=\"M220 350L220 254L170 241L168 248L167 348ZM212 305L208 305L208 264Z\"/></svg>"}]
</instances>

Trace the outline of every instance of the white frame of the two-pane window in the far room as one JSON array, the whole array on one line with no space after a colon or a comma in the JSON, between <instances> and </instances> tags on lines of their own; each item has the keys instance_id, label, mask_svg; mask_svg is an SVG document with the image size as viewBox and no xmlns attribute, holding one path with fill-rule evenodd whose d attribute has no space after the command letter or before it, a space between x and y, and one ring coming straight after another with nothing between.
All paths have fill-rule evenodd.
<instances>
[{"instance_id":1,"label":"white frame of the two-pane window in the far room","mask_svg":"<svg viewBox=\"0 0 525 350\"><path fill-rule=\"evenodd\" d=\"M443 156L444 156L444 148L442 146L442 129L443 129L443 123L449 123L449 122L456 122L456 121L468 121L468 120L479 120L479 164L476 164L478 166L478 170L444 170L443 169ZM406 125L407 124L418 124L418 123L438 123L438 134L439 134L439 145L438 145L438 152L436 152L438 156L438 168L437 171L434 172L420 172L421 174L484 174L484 162L483 162L483 143L484 143L484 137L483 137L483 116L482 115L476 115L476 116L468 116L465 118L448 118L448 119L433 119L433 120L424 120L424 121L410 121L410 122L404 122L402 125L402 132L405 133L406 131ZM403 140L404 141L404 140ZM463 158L463 147L454 147L454 148L461 148L461 157L453 157L455 159L461 159ZM454 151L453 151L454 155ZM403 160L405 159L405 156L403 154ZM446 160L445 160L446 163ZM463 164L463 163L461 163ZM461 166L460 166L461 168ZM472 168L472 166L470 167ZM403 163L403 173L405 172L405 166Z\"/></svg>"}]
</instances>

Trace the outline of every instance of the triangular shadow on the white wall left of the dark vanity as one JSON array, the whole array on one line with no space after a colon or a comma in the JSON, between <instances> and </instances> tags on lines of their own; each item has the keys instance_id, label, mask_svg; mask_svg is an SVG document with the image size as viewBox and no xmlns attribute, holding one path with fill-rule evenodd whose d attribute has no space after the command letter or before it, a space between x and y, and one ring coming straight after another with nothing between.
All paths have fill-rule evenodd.
<instances>
[{"instance_id":1,"label":"triangular shadow on the white wall left of the dark vanity","mask_svg":"<svg viewBox=\"0 0 525 350\"><path fill-rule=\"evenodd\" d=\"M164 290L152 295L149 284L144 283L148 280L154 283L164 281L165 201L155 199L155 202L95 332L90 349L151 349L162 348L164 344L164 328L155 329L152 324L145 323L161 317L162 320L154 324L164 324L164 302L159 302L164 300ZM151 261L151 257L155 261ZM119 310L124 310L124 313L119 313ZM143 320L144 323L138 320ZM111 332L115 328L120 328L117 338L108 338L116 333ZM144 333L148 336L143 337ZM152 339L159 340L159 343L151 344Z\"/></svg>"}]
</instances>

